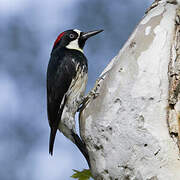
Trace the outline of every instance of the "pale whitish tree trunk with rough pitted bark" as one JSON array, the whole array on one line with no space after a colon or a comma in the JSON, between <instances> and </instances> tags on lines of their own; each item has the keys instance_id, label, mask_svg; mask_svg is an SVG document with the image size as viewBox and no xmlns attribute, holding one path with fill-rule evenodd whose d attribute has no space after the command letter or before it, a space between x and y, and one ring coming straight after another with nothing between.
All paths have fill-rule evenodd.
<instances>
[{"instance_id":1,"label":"pale whitish tree trunk with rough pitted bark","mask_svg":"<svg viewBox=\"0 0 180 180\"><path fill-rule=\"evenodd\" d=\"M179 17L156 0L80 113L95 179L180 179Z\"/></svg>"}]
</instances>

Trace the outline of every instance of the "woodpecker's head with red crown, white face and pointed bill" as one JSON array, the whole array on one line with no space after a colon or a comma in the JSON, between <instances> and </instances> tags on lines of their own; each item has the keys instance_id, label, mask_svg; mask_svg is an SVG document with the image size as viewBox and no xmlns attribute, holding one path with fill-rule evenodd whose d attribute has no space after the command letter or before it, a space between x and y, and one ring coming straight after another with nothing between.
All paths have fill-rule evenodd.
<instances>
[{"instance_id":1,"label":"woodpecker's head with red crown, white face and pointed bill","mask_svg":"<svg viewBox=\"0 0 180 180\"><path fill-rule=\"evenodd\" d=\"M59 34L54 42L53 50L58 47L66 47L68 49L76 49L83 52L86 40L102 31L103 30L81 32L77 29L64 31Z\"/></svg>"}]
</instances>

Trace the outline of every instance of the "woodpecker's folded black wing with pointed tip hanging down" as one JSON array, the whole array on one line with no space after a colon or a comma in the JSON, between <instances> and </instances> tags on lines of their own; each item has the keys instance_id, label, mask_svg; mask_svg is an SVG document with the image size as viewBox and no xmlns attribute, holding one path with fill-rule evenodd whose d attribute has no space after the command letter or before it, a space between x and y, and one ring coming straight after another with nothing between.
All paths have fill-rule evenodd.
<instances>
[{"instance_id":1,"label":"woodpecker's folded black wing with pointed tip hanging down","mask_svg":"<svg viewBox=\"0 0 180 180\"><path fill-rule=\"evenodd\" d=\"M58 58L61 61L58 61ZM75 64L63 57L51 58L47 71L47 110L51 127L49 153L53 154L54 140L61 120L66 93L73 77L76 75Z\"/></svg>"}]
</instances>

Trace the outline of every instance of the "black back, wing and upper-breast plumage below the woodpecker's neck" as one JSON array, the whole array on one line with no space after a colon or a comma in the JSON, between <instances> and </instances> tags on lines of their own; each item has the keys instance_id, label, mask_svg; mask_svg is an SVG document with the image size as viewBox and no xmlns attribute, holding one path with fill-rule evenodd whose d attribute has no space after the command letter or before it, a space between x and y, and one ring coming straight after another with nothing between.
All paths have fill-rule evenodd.
<instances>
[{"instance_id":1,"label":"black back, wing and upper-breast plumage below the woodpecker's neck","mask_svg":"<svg viewBox=\"0 0 180 180\"><path fill-rule=\"evenodd\" d=\"M66 97L61 108L60 105L72 79L76 77L77 64L84 67L83 71L87 73L87 59L82 52L61 48L54 50L51 54L47 71L47 108L51 127L49 152L51 154L53 153L54 139L66 103Z\"/></svg>"}]
</instances>

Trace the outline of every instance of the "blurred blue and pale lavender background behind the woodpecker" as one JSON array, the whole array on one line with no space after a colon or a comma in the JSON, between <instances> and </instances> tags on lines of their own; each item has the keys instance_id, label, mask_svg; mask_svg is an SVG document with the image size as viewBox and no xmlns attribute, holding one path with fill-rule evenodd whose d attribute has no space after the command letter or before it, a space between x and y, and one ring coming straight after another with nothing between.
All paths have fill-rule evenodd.
<instances>
[{"instance_id":1,"label":"blurred blue and pale lavender background behind the woodpecker","mask_svg":"<svg viewBox=\"0 0 180 180\"><path fill-rule=\"evenodd\" d=\"M87 90L117 55L152 0L0 0L0 180L69 180L87 164L60 133L48 154L46 68L64 30L89 39Z\"/></svg>"}]
</instances>

